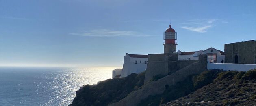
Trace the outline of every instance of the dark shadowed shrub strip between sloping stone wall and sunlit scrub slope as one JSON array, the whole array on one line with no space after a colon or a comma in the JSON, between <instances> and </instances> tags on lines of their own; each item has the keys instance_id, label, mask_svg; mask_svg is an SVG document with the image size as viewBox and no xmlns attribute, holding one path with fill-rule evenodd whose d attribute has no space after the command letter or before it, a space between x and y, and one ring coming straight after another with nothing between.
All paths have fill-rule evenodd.
<instances>
[{"instance_id":1,"label":"dark shadowed shrub strip between sloping stone wall and sunlit scrub slope","mask_svg":"<svg viewBox=\"0 0 256 106\"><path fill-rule=\"evenodd\" d=\"M223 72L222 70L209 70L203 71L200 75L191 75L184 81L178 82L175 85L165 85L165 91L162 94L148 96L137 106L159 106L160 104L167 103L171 100L176 100L182 96L187 96L189 93L201 88L209 83L218 76L218 73Z\"/></svg>"}]
</instances>

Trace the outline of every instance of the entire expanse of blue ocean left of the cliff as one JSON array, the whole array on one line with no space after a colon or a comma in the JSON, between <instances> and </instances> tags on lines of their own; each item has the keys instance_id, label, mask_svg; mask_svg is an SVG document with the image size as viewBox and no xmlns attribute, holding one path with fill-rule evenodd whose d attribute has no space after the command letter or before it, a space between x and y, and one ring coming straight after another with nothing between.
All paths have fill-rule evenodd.
<instances>
[{"instance_id":1,"label":"entire expanse of blue ocean left of the cliff","mask_svg":"<svg viewBox=\"0 0 256 106\"><path fill-rule=\"evenodd\" d=\"M76 91L112 77L116 67L0 67L0 106L67 106Z\"/></svg>"}]
</instances>

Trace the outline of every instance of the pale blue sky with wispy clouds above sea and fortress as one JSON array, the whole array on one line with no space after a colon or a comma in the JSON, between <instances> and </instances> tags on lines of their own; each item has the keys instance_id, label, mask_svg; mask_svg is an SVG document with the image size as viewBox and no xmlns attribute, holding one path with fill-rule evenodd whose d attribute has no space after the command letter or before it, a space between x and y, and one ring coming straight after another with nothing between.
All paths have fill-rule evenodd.
<instances>
[{"instance_id":1,"label":"pale blue sky with wispy clouds above sea and fortress","mask_svg":"<svg viewBox=\"0 0 256 106\"><path fill-rule=\"evenodd\" d=\"M0 0L0 66L122 67L125 53L256 39L256 0Z\"/></svg>"}]
</instances>

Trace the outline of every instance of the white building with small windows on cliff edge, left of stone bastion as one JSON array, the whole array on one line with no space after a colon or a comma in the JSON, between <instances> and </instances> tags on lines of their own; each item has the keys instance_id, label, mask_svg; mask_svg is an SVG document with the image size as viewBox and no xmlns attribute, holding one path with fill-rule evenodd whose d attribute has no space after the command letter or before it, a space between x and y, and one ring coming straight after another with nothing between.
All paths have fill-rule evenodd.
<instances>
[{"instance_id":1,"label":"white building with small windows on cliff edge, left of stone bastion","mask_svg":"<svg viewBox=\"0 0 256 106\"><path fill-rule=\"evenodd\" d=\"M121 71L121 78L131 73L141 73L147 69L148 55L128 54L124 56L124 65Z\"/></svg>"}]
</instances>

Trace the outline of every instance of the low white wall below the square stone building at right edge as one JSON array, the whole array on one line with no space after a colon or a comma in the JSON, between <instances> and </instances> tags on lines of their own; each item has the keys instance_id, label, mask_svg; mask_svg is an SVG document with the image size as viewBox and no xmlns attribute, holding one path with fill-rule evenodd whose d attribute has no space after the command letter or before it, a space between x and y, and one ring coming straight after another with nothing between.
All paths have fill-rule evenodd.
<instances>
[{"instance_id":1,"label":"low white wall below the square stone building at right edge","mask_svg":"<svg viewBox=\"0 0 256 106\"><path fill-rule=\"evenodd\" d=\"M208 63L207 69L222 69L222 70L236 70L236 71L248 71L250 69L256 69L256 64L221 64L221 63Z\"/></svg>"}]
</instances>

